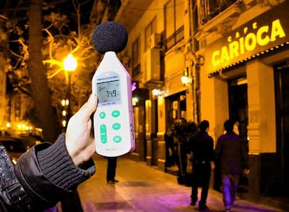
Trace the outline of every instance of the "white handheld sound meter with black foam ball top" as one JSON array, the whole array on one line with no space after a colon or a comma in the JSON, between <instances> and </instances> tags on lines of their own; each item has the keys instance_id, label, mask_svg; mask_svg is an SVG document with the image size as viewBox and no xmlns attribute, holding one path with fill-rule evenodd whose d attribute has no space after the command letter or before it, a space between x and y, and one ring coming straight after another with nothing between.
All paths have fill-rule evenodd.
<instances>
[{"instance_id":1,"label":"white handheld sound meter with black foam ball top","mask_svg":"<svg viewBox=\"0 0 289 212\"><path fill-rule=\"evenodd\" d=\"M120 23L103 22L94 29L92 45L104 54L91 82L98 97L93 123L96 153L101 156L135 150L131 76L117 58L127 42L128 33Z\"/></svg>"}]
</instances>

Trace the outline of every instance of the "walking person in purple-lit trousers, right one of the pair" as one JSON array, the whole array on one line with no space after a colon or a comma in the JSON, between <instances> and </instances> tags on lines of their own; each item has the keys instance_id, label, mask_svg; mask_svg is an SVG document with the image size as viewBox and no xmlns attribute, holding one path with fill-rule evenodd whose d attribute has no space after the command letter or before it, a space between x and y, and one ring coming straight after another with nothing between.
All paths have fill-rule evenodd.
<instances>
[{"instance_id":1,"label":"walking person in purple-lit trousers, right one of the pair","mask_svg":"<svg viewBox=\"0 0 289 212\"><path fill-rule=\"evenodd\" d=\"M249 174L249 157L246 151L246 141L237 135L234 122L224 123L225 134L218 137L215 153L221 162L223 186L223 204L225 211L230 211L236 198L239 176Z\"/></svg>"}]
</instances>

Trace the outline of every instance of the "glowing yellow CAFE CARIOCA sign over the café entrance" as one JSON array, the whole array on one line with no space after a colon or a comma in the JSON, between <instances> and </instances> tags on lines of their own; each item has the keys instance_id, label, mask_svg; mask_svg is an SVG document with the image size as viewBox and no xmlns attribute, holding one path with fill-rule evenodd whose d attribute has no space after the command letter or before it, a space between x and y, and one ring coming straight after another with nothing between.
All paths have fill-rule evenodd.
<instances>
[{"instance_id":1,"label":"glowing yellow CAFE CARIOCA sign over the caf\u00e9 entrance","mask_svg":"<svg viewBox=\"0 0 289 212\"><path fill-rule=\"evenodd\" d=\"M208 45L205 50L207 73L214 73L289 41L289 13L286 8L289 8L289 1L275 6Z\"/></svg>"}]
</instances>

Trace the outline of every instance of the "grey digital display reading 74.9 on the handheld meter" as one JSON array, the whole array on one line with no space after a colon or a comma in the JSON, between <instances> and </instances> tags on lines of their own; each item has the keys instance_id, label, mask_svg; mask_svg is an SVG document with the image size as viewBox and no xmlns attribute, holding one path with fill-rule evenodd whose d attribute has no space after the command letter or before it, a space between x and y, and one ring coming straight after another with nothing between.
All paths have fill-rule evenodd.
<instances>
[{"instance_id":1,"label":"grey digital display reading 74.9 on the handheld meter","mask_svg":"<svg viewBox=\"0 0 289 212\"><path fill-rule=\"evenodd\" d=\"M98 103L117 103L120 102L120 82L114 80L97 84Z\"/></svg>"}]
</instances>

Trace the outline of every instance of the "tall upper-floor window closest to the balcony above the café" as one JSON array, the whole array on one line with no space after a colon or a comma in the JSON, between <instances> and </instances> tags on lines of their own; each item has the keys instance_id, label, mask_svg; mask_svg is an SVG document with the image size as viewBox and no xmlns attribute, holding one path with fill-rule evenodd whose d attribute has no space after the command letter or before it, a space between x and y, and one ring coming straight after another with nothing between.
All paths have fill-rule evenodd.
<instances>
[{"instance_id":1,"label":"tall upper-floor window closest to the balcony above the caf\u00e9","mask_svg":"<svg viewBox=\"0 0 289 212\"><path fill-rule=\"evenodd\" d=\"M184 3L183 0L170 0L165 4L165 40L166 49L184 39Z\"/></svg>"}]
</instances>

